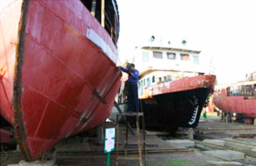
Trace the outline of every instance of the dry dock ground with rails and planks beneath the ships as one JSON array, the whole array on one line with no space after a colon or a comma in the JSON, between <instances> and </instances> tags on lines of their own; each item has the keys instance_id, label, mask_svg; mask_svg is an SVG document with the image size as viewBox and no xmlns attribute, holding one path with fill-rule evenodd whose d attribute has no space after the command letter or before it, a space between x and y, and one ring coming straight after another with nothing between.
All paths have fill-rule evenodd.
<instances>
[{"instance_id":1,"label":"dry dock ground with rails and planks beneath the ships","mask_svg":"<svg viewBox=\"0 0 256 166\"><path fill-rule=\"evenodd\" d=\"M211 116L209 122L200 122L194 131L195 140L187 139L187 132L180 129L174 135L148 132L147 166L217 166L219 162L230 165L255 165L255 125L222 123L220 117ZM124 131L123 131L124 132ZM190 142L192 141L192 142ZM120 144L124 137L120 137ZM137 139L129 137L131 156L136 155ZM122 146L121 146L122 147ZM105 166L106 154L96 137L73 137L56 145L58 166ZM124 154L124 150L120 149ZM23 159L17 152L1 152L1 166L18 164ZM116 165L116 154L111 152L110 165ZM215 162L215 163L214 163ZM217 163L216 163L217 162ZM136 166L138 161L120 161L119 166ZM223 164L222 164L223 165Z\"/></svg>"}]
</instances>

